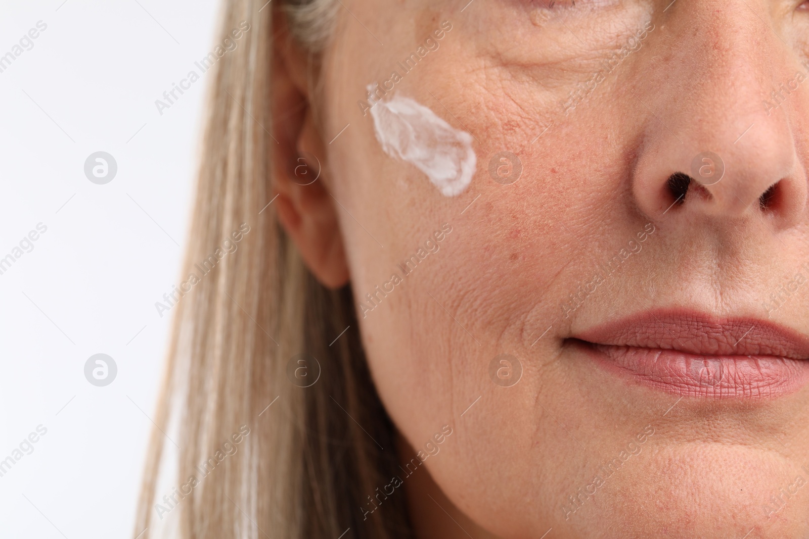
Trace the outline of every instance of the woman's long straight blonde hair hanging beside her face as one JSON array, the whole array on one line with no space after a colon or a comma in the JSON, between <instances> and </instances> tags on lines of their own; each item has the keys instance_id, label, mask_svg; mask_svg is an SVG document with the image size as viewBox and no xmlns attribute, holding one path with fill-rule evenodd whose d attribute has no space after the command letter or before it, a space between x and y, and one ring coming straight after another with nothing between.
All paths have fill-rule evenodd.
<instances>
[{"instance_id":1,"label":"woman's long straight blonde hair hanging beside her face","mask_svg":"<svg viewBox=\"0 0 809 539\"><path fill-rule=\"evenodd\" d=\"M244 21L250 27L208 75L209 116L182 275L198 273L202 261L214 267L190 291L182 287L176 304L133 530L138 539L150 537L158 520L157 482L172 422L181 448L180 488L172 491L180 537L410 537L404 495L371 515L361 508L398 462L350 288L331 291L314 279L268 205L273 16L285 17L290 34L316 56L338 3L277 2L226 0L222 13L222 37ZM237 250L210 258L225 238L239 238ZM321 369L307 388L286 375L301 352ZM223 442L238 452L219 459ZM202 463L210 463L203 465L209 473L201 473Z\"/></svg>"}]
</instances>

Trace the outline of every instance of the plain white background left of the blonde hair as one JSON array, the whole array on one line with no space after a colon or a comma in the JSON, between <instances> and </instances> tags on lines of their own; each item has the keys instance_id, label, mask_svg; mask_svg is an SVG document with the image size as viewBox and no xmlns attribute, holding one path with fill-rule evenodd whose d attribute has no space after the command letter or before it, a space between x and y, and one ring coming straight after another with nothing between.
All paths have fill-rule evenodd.
<instances>
[{"instance_id":1,"label":"plain white background left of the blonde hair","mask_svg":"<svg viewBox=\"0 0 809 539\"><path fill-rule=\"evenodd\" d=\"M0 56L48 25L0 73L0 258L48 227L0 275L0 460L48 429L0 477L4 539L134 535L170 320L155 301L179 276L210 72L163 116L155 99L214 47L218 15L62 2L0 2ZM83 171L99 150L118 166L105 185ZM117 364L106 387L84 377L96 353Z\"/></svg>"}]
</instances>

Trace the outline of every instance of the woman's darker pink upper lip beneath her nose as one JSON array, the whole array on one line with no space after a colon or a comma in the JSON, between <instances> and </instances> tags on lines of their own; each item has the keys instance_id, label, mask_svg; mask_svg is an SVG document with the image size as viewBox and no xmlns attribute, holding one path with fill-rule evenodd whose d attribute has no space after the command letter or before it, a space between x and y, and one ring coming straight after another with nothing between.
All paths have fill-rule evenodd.
<instances>
[{"instance_id":1,"label":"woman's darker pink upper lip beneath her nose","mask_svg":"<svg viewBox=\"0 0 809 539\"><path fill-rule=\"evenodd\" d=\"M809 337L798 331L759 318L718 317L694 310L647 310L572 337L695 355L809 358Z\"/></svg>"}]
</instances>

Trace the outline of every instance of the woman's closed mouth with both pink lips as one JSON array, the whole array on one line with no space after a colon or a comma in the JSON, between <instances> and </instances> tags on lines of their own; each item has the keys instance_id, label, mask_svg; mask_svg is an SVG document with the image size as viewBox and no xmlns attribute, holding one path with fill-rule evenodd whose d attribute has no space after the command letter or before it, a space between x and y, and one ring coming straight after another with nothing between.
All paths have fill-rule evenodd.
<instances>
[{"instance_id":1,"label":"woman's closed mouth with both pink lips","mask_svg":"<svg viewBox=\"0 0 809 539\"><path fill-rule=\"evenodd\" d=\"M699 398L775 398L809 382L809 338L756 318L650 310L573 335L598 364Z\"/></svg>"}]
</instances>

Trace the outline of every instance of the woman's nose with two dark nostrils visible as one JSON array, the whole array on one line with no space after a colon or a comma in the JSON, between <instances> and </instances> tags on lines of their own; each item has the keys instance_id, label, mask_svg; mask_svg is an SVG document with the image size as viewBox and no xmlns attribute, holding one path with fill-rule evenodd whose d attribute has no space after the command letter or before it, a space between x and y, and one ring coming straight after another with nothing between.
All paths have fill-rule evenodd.
<instances>
[{"instance_id":1,"label":"woman's nose with two dark nostrils visible","mask_svg":"<svg viewBox=\"0 0 809 539\"><path fill-rule=\"evenodd\" d=\"M763 2L680 0L659 24L644 60L658 64L649 70L654 80L633 91L648 115L632 190L648 217L757 214L784 229L803 216L807 178L796 135L807 127L809 89L798 87L805 69Z\"/></svg>"}]
</instances>

